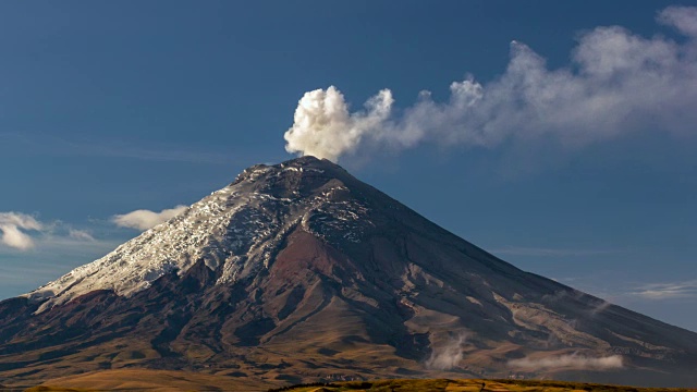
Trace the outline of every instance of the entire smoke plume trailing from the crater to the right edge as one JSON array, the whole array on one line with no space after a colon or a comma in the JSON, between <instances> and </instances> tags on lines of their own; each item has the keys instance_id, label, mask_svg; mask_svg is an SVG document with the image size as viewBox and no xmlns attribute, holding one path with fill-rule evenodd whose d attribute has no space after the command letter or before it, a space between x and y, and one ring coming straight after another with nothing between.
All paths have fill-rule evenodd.
<instances>
[{"instance_id":1,"label":"entire smoke plume trailing from the crater to the right edge","mask_svg":"<svg viewBox=\"0 0 697 392\"><path fill-rule=\"evenodd\" d=\"M429 91L398 114L389 89L351 112L330 86L305 93L285 133L291 154L338 161L367 146L402 150L423 143L492 148L506 140L552 139L565 148L648 128L692 134L697 126L697 8L669 7L657 17L684 39L645 38L620 26L580 35L572 62L549 70L522 42L511 42L503 75Z\"/></svg>"}]
</instances>

